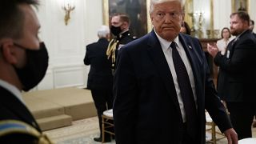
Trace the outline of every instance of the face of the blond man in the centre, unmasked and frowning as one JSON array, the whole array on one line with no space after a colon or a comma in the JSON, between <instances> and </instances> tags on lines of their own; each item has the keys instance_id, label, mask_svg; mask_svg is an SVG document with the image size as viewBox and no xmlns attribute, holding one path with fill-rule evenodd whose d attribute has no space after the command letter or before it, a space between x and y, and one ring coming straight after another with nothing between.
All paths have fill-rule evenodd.
<instances>
[{"instance_id":1,"label":"face of the blond man in the centre, unmasked and frowning","mask_svg":"<svg viewBox=\"0 0 256 144\"><path fill-rule=\"evenodd\" d=\"M154 5L150 14L154 30L166 41L174 41L182 26L182 4L179 1L162 2Z\"/></svg>"}]
</instances>

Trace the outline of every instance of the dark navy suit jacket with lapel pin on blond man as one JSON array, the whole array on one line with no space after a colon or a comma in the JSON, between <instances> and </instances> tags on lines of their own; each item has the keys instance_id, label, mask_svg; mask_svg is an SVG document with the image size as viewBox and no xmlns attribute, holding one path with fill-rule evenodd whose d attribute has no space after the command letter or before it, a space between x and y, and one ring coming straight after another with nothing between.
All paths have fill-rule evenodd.
<instances>
[{"instance_id":1,"label":"dark navy suit jacket with lapel pin on blond man","mask_svg":"<svg viewBox=\"0 0 256 144\"><path fill-rule=\"evenodd\" d=\"M214 89L200 42L185 34L179 34L179 40L194 74L200 123L198 144L204 144L205 109L220 130L229 129L231 124ZM182 142L182 114L174 81L154 30L120 51L114 75L114 97L118 144Z\"/></svg>"}]
</instances>

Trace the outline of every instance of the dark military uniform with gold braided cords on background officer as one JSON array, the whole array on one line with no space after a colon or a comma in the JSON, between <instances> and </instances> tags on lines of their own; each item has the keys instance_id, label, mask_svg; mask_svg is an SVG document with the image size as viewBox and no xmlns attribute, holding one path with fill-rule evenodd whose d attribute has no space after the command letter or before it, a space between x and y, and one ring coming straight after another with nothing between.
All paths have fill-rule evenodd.
<instances>
[{"instance_id":1,"label":"dark military uniform with gold braided cords on background officer","mask_svg":"<svg viewBox=\"0 0 256 144\"><path fill-rule=\"evenodd\" d=\"M126 32L118 35L117 37L111 40L106 50L106 55L107 55L107 58L111 58L111 62L112 62L111 67L112 67L113 74L115 70L116 58L118 58L118 50L120 50L122 46L133 41L134 39L135 38L130 34L130 31L127 30Z\"/></svg>"}]
</instances>

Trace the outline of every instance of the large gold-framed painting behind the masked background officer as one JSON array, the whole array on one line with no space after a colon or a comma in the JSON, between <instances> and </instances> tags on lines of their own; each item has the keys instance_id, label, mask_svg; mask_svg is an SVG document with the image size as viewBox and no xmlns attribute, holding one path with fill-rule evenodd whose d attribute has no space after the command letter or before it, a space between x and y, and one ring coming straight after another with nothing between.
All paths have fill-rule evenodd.
<instances>
[{"instance_id":1,"label":"large gold-framed painting behind the masked background officer","mask_svg":"<svg viewBox=\"0 0 256 144\"><path fill-rule=\"evenodd\" d=\"M134 34L135 37L139 38L149 33L153 27L151 24L150 14L149 14L150 0L134 0L134 1L139 2L139 5L137 4L136 6L140 6L139 7L140 13L136 14L137 16L136 18L138 20L137 23L132 23L132 20L134 19L134 17L133 18L130 17L130 20L131 20L130 31L132 34ZM130 15L131 12L136 11L136 10L130 10L126 12L126 7L128 7L126 2L130 2L130 0L102 0L104 25L110 26L110 17L114 13L126 13Z\"/></svg>"}]
</instances>

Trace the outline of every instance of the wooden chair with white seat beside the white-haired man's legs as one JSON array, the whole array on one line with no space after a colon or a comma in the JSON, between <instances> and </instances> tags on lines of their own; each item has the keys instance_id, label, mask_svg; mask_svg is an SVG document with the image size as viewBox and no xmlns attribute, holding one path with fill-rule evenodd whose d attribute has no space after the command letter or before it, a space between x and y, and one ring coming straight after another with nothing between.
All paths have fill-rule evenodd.
<instances>
[{"instance_id":1,"label":"wooden chair with white seat beside the white-haired man's legs","mask_svg":"<svg viewBox=\"0 0 256 144\"><path fill-rule=\"evenodd\" d=\"M105 142L105 134L114 135L113 110L106 110L102 114L102 143Z\"/></svg>"}]
</instances>

